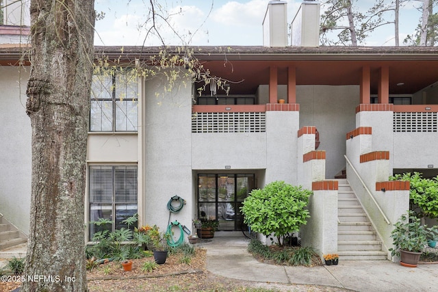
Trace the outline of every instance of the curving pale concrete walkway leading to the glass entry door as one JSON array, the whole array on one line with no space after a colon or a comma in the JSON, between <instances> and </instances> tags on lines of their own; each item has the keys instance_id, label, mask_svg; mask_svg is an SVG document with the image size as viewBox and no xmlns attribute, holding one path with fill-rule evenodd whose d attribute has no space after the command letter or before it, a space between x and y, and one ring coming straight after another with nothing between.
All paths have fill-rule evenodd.
<instances>
[{"instance_id":1,"label":"curving pale concrete walkway leading to the glass entry door","mask_svg":"<svg viewBox=\"0 0 438 292\"><path fill-rule=\"evenodd\" d=\"M402 267L390 261L342 261L339 265L283 267L259 263L248 239L216 236L203 243L207 269L227 278L280 284L315 284L352 291L438 291L438 265Z\"/></svg>"}]
</instances>

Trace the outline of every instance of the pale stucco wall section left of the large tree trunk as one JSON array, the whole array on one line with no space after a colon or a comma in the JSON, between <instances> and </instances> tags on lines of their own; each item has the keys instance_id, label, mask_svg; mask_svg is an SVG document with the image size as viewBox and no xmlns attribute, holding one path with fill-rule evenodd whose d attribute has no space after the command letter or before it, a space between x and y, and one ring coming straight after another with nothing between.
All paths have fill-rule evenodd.
<instances>
[{"instance_id":1,"label":"pale stucco wall section left of the large tree trunk","mask_svg":"<svg viewBox=\"0 0 438 292\"><path fill-rule=\"evenodd\" d=\"M29 68L0 66L0 213L29 232L31 126L25 113Z\"/></svg>"}]
</instances>

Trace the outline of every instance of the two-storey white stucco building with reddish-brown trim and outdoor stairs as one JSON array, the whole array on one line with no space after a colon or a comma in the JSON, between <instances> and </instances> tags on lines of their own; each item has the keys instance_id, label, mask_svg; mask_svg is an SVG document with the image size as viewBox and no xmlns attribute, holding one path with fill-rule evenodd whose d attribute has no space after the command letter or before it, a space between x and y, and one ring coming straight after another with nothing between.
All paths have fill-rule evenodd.
<instances>
[{"instance_id":1,"label":"two-storey white stucco building with reddish-brown trim and outdoor stairs","mask_svg":"<svg viewBox=\"0 0 438 292\"><path fill-rule=\"evenodd\" d=\"M260 47L190 48L211 75L227 80L229 94L207 86L199 96L203 82L190 79L165 93L164 76L96 76L85 222L106 217L118 228L137 212L140 225L162 230L169 218L191 229L196 217L240 230L239 207L250 190L281 180L313 190L302 244L345 258L387 258L391 224L409 208L409 185L387 182L388 176L438 174L438 49L317 47L302 34L306 47L270 36L273 44ZM160 50L125 47L120 54L118 47L96 47L96 57L141 62ZM0 213L27 234L29 67L18 66L21 53L14 45L0 47ZM342 198L350 190L353 197ZM175 195L186 204L170 214L166 204ZM363 211L347 218L354 213L350 202L350 209ZM352 220L361 224L346 224ZM365 228L355 230L356 239L345 234L352 225ZM88 225L86 241L92 233ZM377 247L350 246L359 240Z\"/></svg>"}]
</instances>

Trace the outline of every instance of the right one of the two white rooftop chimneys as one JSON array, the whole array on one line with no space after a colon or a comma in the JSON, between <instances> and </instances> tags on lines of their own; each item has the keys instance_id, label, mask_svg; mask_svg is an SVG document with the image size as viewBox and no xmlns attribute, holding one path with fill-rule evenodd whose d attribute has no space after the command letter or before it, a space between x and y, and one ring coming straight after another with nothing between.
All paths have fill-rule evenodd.
<instances>
[{"instance_id":1,"label":"right one of the two white rooftop chimneys","mask_svg":"<svg viewBox=\"0 0 438 292\"><path fill-rule=\"evenodd\" d=\"M292 21L292 46L318 47L320 44L320 3L302 1Z\"/></svg>"}]
</instances>

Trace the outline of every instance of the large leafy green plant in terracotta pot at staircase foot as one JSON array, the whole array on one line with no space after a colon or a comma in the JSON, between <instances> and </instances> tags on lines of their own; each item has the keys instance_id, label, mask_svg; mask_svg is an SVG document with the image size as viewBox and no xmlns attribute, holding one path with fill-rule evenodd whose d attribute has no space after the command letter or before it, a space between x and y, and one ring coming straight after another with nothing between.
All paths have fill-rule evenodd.
<instances>
[{"instance_id":1,"label":"large leafy green plant in terracotta pot at staircase foot","mask_svg":"<svg viewBox=\"0 0 438 292\"><path fill-rule=\"evenodd\" d=\"M399 256L400 265L417 267L422 250L427 244L430 228L422 225L413 211L400 216L394 227L391 232L394 248L389 249L391 256Z\"/></svg>"}]
</instances>

